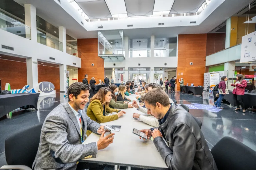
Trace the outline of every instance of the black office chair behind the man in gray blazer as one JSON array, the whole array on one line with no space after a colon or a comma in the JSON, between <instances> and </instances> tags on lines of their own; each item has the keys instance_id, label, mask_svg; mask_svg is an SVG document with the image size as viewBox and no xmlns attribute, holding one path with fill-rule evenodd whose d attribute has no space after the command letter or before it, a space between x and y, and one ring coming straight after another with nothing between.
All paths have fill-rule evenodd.
<instances>
[{"instance_id":1,"label":"black office chair behind the man in gray blazer","mask_svg":"<svg viewBox=\"0 0 256 170\"><path fill-rule=\"evenodd\" d=\"M5 139L5 156L8 165L4 165L0 169L29 170L32 168L42 126L43 123L23 129Z\"/></svg>"}]
</instances>

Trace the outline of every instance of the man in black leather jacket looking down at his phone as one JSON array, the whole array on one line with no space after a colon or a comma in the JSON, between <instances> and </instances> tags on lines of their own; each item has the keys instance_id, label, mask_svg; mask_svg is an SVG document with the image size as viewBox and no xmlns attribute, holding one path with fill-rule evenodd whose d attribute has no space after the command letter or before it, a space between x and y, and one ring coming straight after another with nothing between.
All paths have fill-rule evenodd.
<instances>
[{"instance_id":1,"label":"man in black leather jacket looking down at his phone","mask_svg":"<svg viewBox=\"0 0 256 170\"><path fill-rule=\"evenodd\" d=\"M154 138L154 144L169 169L217 170L200 127L183 107L170 104L163 90L149 91L143 101L148 114L161 120L161 124L154 130L141 131L148 138Z\"/></svg>"}]
</instances>

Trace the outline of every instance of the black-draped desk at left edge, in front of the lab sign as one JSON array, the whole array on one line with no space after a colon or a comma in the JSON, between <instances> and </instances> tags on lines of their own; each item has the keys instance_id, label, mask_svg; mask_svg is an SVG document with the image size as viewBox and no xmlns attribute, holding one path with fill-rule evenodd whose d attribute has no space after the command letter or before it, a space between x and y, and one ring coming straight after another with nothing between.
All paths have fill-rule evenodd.
<instances>
[{"instance_id":1,"label":"black-draped desk at left edge, in front of the lab sign","mask_svg":"<svg viewBox=\"0 0 256 170\"><path fill-rule=\"evenodd\" d=\"M24 106L32 105L37 110L40 93L18 93L0 96L0 118L7 113Z\"/></svg>"}]
</instances>

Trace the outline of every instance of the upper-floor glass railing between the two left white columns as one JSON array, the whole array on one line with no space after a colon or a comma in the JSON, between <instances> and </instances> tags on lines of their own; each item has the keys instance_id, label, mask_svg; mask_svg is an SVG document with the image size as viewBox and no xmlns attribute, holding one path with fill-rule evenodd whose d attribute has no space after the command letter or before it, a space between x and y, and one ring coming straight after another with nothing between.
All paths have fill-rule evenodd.
<instances>
[{"instance_id":1,"label":"upper-floor glass railing between the two left white columns","mask_svg":"<svg viewBox=\"0 0 256 170\"><path fill-rule=\"evenodd\" d=\"M49 47L63 51L62 42L47 36L46 34L37 30L37 42L47 45Z\"/></svg>"}]
</instances>

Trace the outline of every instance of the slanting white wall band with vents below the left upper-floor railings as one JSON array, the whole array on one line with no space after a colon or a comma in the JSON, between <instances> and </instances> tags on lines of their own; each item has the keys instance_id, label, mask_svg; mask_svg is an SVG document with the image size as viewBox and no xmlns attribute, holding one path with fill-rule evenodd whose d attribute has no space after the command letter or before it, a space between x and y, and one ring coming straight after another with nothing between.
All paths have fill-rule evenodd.
<instances>
[{"instance_id":1,"label":"slanting white wall band with vents below the left upper-floor railings","mask_svg":"<svg viewBox=\"0 0 256 170\"><path fill-rule=\"evenodd\" d=\"M57 64L66 64L75 67L81 67L81 58L64 53L57 49L48 47L38 42L32 42L29 39L0 30L0 44L14 47L14 51L0 48L0 53L12 56L25 56L37 58L44 61L54 62ZM54 57L55 60L50 60ZM76 65L73 65L73 62Z\"/></svg>"}]
</instances>

